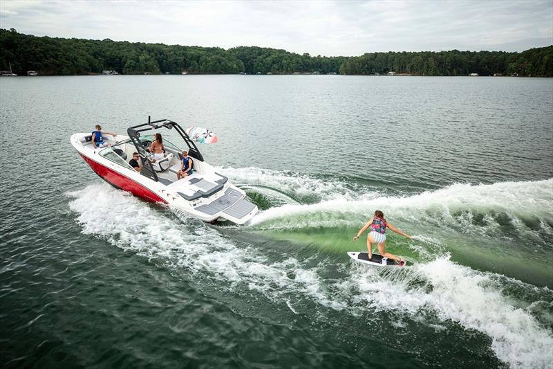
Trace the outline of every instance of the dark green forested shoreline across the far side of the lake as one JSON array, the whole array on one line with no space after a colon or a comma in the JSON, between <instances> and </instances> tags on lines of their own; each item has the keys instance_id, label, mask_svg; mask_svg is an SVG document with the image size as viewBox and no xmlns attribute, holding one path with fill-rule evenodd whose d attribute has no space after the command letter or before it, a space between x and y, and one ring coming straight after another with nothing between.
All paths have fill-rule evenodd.
<instances>
[{"instance_id":1,"label":"dark green forested shoreline across the far side of the lake","mask_svg":"<svg viewBox=\"0 0 553 369\"><path fill-rule=\"evenodd\" d=\"M521 53L440 51L366 53L325 57L275 48L217 47L66 39L0 29L0 69L25 75L120 74L294 74L521 75L553 76L553 45Z\"/></svg>"}]
</instances>

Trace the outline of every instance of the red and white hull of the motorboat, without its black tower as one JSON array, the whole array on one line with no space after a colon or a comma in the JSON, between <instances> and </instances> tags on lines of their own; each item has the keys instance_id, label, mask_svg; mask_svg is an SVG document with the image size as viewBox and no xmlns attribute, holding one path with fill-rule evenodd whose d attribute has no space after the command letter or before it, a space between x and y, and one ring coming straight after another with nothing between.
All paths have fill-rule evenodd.
<instances>
[{"instance_id":1,"label":"red and white hull of the motorboat, without its black tower","mask_svg":"<svg viewBox=\"0 0 553 369\"><path fill-rule=\"evenodd\" d=\"M167 204L204 222L226 219L236 224L244 224L258 211L257 206L245 198L243 190L233 186L226 177L216 173L205 161L196 160L194 174L186 179L178 180L176 172L170 172L165 168L163 172L158 172L156 181L137 172L131 168L127 159L123 159L123 156L129 157L135 150L133 146L129 146L129 137L118 135L116 142L113 137L104 135L104 140L109 141L113 145L112 148L122 147L126 150L123 156L118 156L113 154L112 148L93 147L90 138L86 141L87 136L90 135L73 134L71 144L92 170L115 188L129 191L146 201ZM178 167L180 159L177 157L172 160Z\"/></svg>"}]
</instances>

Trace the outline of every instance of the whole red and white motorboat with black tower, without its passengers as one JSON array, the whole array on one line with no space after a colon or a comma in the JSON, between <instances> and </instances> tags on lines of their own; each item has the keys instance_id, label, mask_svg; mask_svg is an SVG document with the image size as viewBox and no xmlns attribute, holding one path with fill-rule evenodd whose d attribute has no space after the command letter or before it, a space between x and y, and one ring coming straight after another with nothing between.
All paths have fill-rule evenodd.
<instances>
[{"instance_id":1,"label":"whole red and white motorboat with black tower, without its passengers","mask_svg":"<svg viewBox=\"0 0 553 369\"><path fill-rule=\"evenodd\" d=\"M148 123L129 127L126 132L128 136L102 134L108 147L95 147L90 133L71 135L71 144L104 181L146 201L165 204L211 223L228 220L244 224L258 212L241 188L204 161L194 140L178 123L151 121L149 117ZM148 147L158 132L162 133L165 152L163 159L153 160ZM174 138L180 142L172 143ZM178 179L182 149L191 157L194 173ZM129 164L134 152L142 162L140 172Z\"/></svg>"}]
</instances>

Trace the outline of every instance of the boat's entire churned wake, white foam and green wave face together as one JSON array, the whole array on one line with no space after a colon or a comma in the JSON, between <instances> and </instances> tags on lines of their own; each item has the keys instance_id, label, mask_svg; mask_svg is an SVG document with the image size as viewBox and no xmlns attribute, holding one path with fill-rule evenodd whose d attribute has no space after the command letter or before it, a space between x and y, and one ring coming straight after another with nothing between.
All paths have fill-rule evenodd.
<instances>
[{"instance_id":1,"label":"boat's entire churned wake, white foam and green wave face together","mask_svg":"<svg viewBox=\"0 0 553 369\"><path fill-rule=\"evenodd\" d=\"M384 312L399 316L398 326L416 321L440 332L453 324L485 334L496 357L512 368L546 368L553 361L553 291L547 283L524 281L511 267L529 258L550 278L553 179L406 193L355 179L218 170L265 209L245 227L207 226L105 183L68 193L70 208L82 233L200 288L250 296L244 297L250 309L263 296L314 324L336 312L352 319ZM349 261L345 251L366 247L351 237L376 209L415 235L413 242L390 237L386 246L406 255L413 267L380 270ZM327 243L310 242L317 240L313 229ZM280 241L267 246L267 240ZM281 242L282 249L275 249ZM466 255L474 253L495 260L496 269L473 264ZM499 272L501 263L512 273Z\"/></svg>"}]
</instances>

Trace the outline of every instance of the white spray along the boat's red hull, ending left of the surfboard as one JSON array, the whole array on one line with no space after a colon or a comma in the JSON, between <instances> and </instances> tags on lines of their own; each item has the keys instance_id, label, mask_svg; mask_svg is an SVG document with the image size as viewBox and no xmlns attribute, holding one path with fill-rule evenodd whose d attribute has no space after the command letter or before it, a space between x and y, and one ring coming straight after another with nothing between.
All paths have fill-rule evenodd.
<instances>
[{"instance_id":1,"label":"white spray along the boat's red hull, ending left of the surfboard","mask_svg":"<svg viewBox=\"0 0 553 369\"><path fill-rule=\"evenodd\" d=\"M277 301L290 294L311 296L321 305L340 308L326 298L317 269L304 267L308 260L289 257L270 262L252 247L238 246L204 224L182 224L104 183L68 195L75 197L70 207L79 214L85 234L105 237L115 246L189 271L191 276L200 274L203 279L207 273L207 278L224 281L218 285L247 287Z\"/></svg>"}]
</instances>

